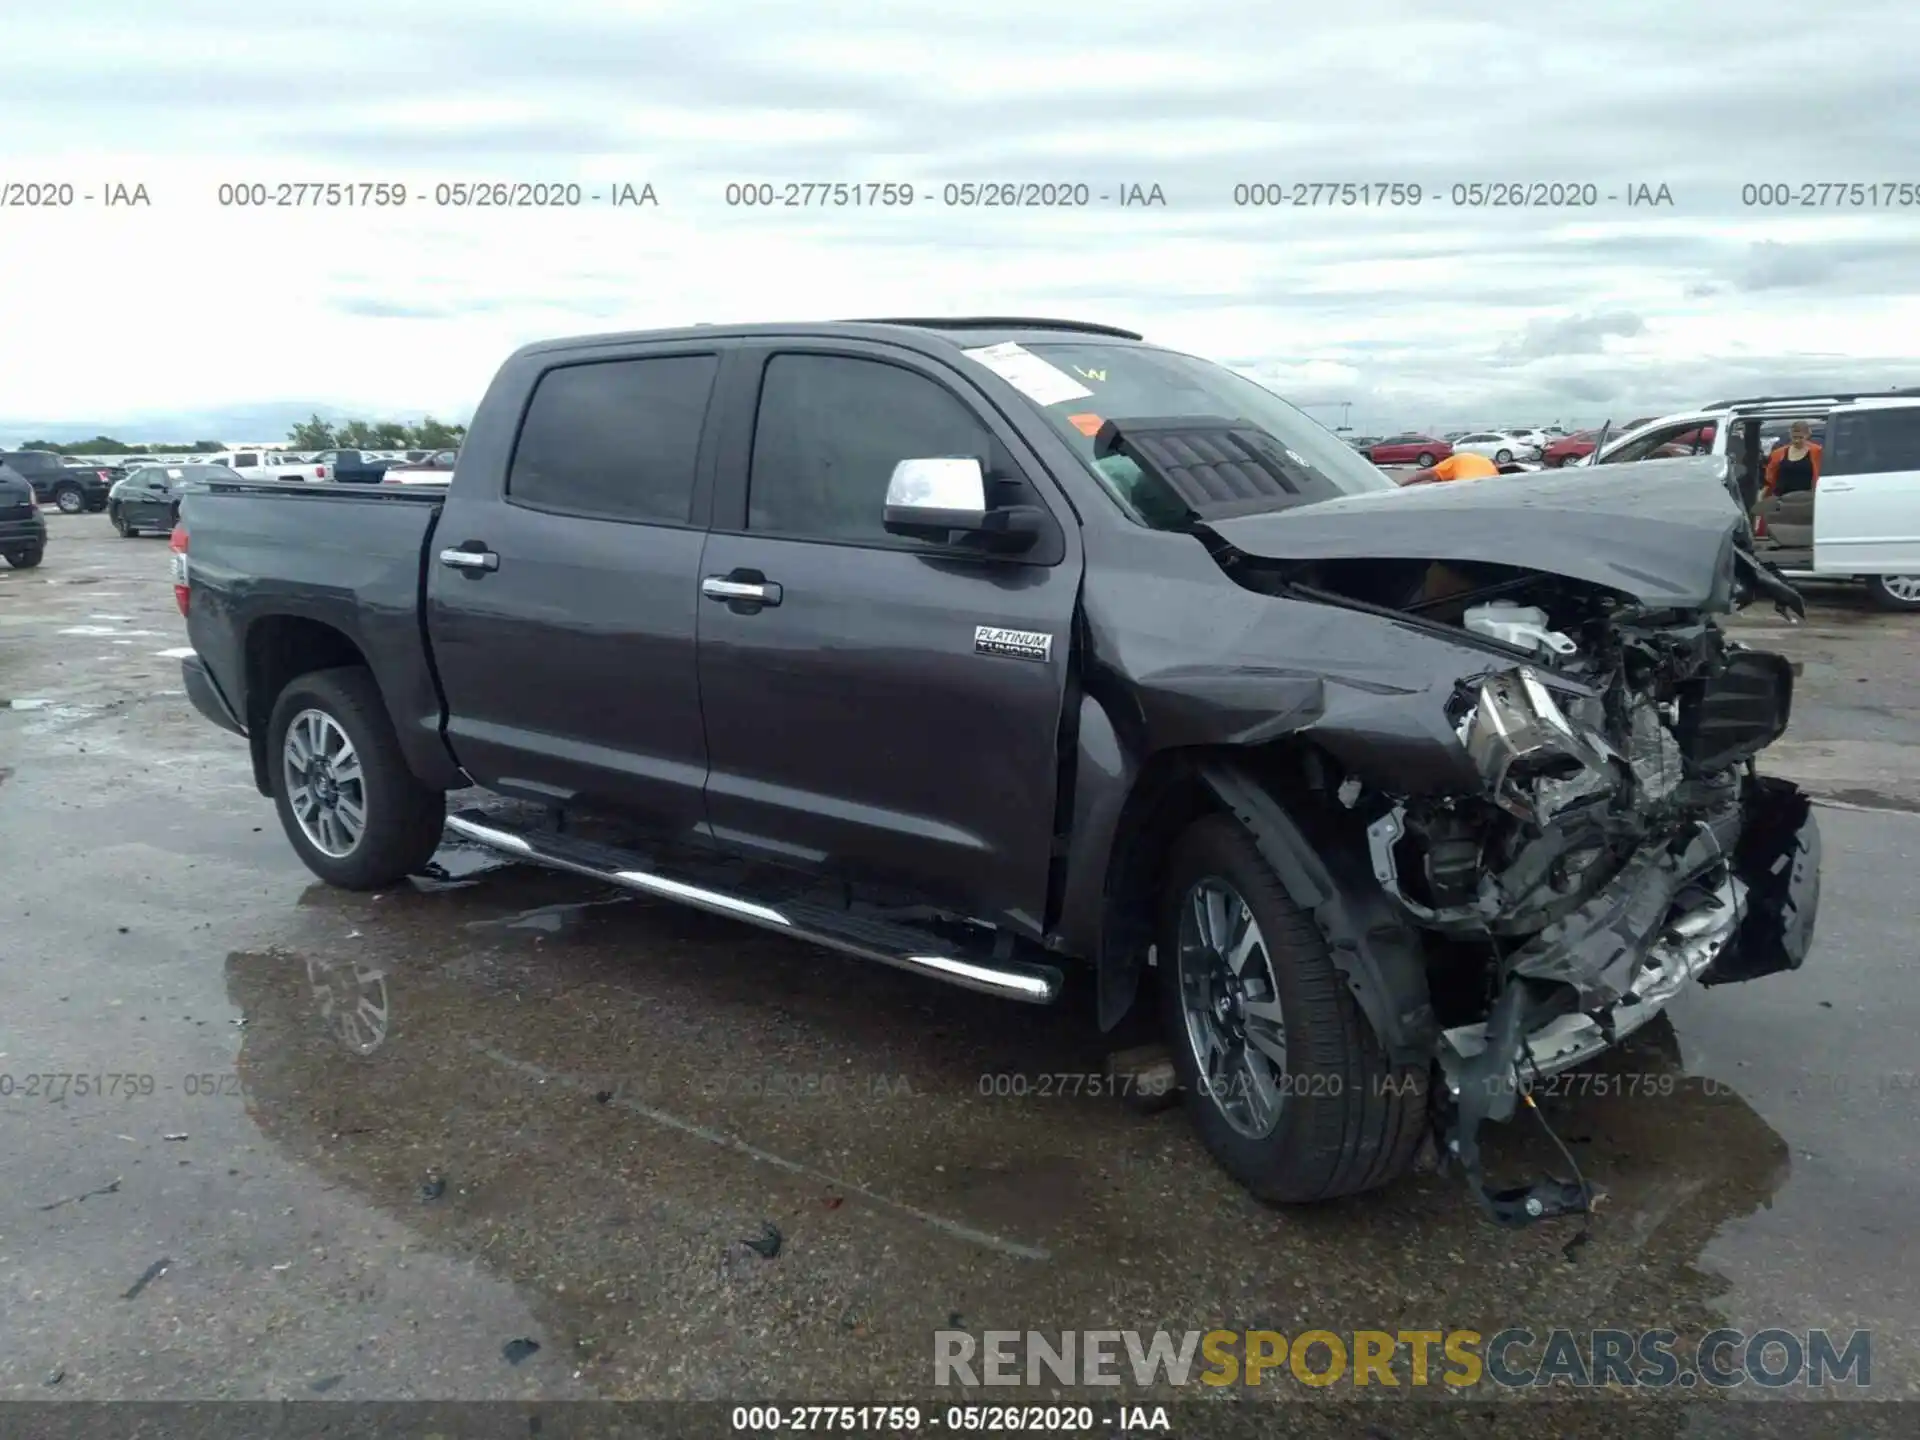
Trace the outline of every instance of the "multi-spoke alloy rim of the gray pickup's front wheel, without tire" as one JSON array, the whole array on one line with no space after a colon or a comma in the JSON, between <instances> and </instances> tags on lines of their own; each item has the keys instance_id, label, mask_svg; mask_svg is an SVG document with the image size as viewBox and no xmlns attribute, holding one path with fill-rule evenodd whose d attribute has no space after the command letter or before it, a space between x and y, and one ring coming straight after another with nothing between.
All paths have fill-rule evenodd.
<instances>
[{"instance_id":1,"label":"multi-spoke alloy rim of the gray pickup's front wheel, without tire","mask_svg":"<svg viewBox=\"0 0 1920 1440\"><path fill-rule=\"evenodd\" d=\"M1288 1085L1286 1023L1267 939L1225 879L1194 881L1181 899L1173 962L1198 1089L1240 1135L1271 1135Z\"/></svg>"}]
</instances>

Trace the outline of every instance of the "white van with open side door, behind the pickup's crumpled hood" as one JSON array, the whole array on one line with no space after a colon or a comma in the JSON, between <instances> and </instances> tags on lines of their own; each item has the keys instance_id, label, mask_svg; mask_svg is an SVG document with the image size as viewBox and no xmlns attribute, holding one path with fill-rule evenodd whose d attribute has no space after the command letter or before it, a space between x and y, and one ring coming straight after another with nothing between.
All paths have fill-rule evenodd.
<instances>
[{"instance_id":1,"label":"white van with open side door, behind the pickup's crumpled hood","mask_svg":"<svg viewBox=\"0 0 1920 1440\"><path fill-rule=\"evenodd\" d=\"M1859 580L1882 609L1920 611L1920 390L1722 401L1649 420L1588 463L1724 455L1751 511L1793 420L1814 428L1822 451L1812 543L1759 534L1755 549L1788 576Z\"/></svg>"}]
</instances>

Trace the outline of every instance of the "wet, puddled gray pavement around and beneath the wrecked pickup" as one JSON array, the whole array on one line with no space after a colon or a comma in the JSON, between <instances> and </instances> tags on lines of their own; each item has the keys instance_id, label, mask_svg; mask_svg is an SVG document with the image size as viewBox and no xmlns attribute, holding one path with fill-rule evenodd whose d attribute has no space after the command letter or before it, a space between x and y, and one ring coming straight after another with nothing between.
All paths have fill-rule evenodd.
<instances>
[{"instance_id":1,"label":"wet, puddled gray pavement around and beneath the wrecked pickup","mask_svg":"<svg viewBox=\"0 0 1920 1440\"><path fill-rule=\"evenodd\" d=\"M939 1329L1509 1325L1870 1329L1920 1386L1920 618L1741 622L1836 801L1816 950L1557 1087L1569 1250L1434 1175L1252 1202L1073 1079L1085 1004L457 849L328 891L180 693L165 541L50 526L0 570L0 1398L897 1398Z\"/></svg>"}]
</instances>

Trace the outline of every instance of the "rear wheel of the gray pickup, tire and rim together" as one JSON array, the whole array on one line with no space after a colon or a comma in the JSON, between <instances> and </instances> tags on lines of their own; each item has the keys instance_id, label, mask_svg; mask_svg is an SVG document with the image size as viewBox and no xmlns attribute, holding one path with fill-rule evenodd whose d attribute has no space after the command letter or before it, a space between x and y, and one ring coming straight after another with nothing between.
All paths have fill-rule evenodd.
<instances>
[{"instance_id":1,"label":"rear wheel of the gray pickup, tire and rim together","mask_svg":"<svg viewBox=\"0 0 1920 1440\"><path fill-rule=\"evenodd\" d=\"M286 837L328 885L394 885L440 847L447 797L413 776L361 666L313 670L280 691L267 770Z\"/></svg>"}]
</instances>

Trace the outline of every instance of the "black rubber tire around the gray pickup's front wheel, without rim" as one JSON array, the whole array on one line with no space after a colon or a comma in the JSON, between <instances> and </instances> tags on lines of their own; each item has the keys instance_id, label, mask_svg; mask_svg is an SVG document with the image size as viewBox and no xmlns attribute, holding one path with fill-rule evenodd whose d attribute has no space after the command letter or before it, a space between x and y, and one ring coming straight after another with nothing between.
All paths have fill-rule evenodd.
<instances>
[{"instance_id":1,"label":"black rubber tire around the gray pickup's front wheel, without rim","mask_svg":"<svg viewBox=\"0 0 1920 1440\"><path fill-rule=\"evenodd\" d=\"M1286 1075L1271 1133L1227 1119L1200 1066L1181 1002L1179 914L1202 879L1246 902L1265 939L1286 1037ZM1162 1016L1187 1114L1213 1158L1269 1204L1309 1204L1373 1190L1404 1175L1427 1133L1425 1066L1394 1066L1340 972L1327 937L1227 818L1194 822L1175 843L1160 914Z\"/></svg>"}]
</instances>

